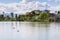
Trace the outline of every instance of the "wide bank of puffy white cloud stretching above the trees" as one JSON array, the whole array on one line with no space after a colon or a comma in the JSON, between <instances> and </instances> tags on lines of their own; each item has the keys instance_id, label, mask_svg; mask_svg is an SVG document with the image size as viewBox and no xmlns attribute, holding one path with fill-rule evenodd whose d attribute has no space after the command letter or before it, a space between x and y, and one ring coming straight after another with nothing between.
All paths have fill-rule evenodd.
<instances>
[{"instance_id":1,"label":"wide bank of puffy white cloud stretching above the trees","mask_svg":"<svg viewBox=\"0 0 60 40\"><path fill-rule=\"evenodd\" d=\"M22 0L19 3L8 3L8 4L0 3L0 12L4 11L4 12L25 13L32 10L44 10L46 8L46 5L47 8L50 10L59 10L60 8L60 6L50 7L51 5L49 5L47 2L41 3L39 1L34 0Z\"/></svg>"}]
</instances>

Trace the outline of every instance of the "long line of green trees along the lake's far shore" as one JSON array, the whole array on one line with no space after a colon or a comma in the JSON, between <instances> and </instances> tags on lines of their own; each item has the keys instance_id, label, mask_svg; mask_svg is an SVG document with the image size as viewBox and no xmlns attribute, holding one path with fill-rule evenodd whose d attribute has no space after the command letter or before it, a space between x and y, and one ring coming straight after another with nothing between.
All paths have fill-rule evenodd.
<instances>
[{"instance_id":1,"label":"long line of green trees along the lake's far shore","mask_svg":"<svg viewBox=\"0 0 60 40\"><path fill-rule=\"evenodd\" d=\"M6 17L4 14L0 15L0 21L31 21L31 22L49 22L53 21L50 17L53 17L56 14L50 14L49 11L31 11L23 15L17 15L14 13L10 13L11 16L7 15ZM60 20L59 20L60 21Z\"/></svg>"}]
</instances>

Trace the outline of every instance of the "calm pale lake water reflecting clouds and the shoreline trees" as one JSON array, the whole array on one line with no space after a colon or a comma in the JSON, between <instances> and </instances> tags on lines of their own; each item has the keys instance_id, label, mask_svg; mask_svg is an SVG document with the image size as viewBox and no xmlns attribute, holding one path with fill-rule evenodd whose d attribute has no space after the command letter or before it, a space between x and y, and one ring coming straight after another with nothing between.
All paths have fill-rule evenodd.
<instances>
[{"instance_id":1,"label":"calm pale lake water reflecting clouds and the shoreline trees","mask_svg":"<svg viewBox=\"0 0 60 40\"><path fill-rule=\"evenodd\" d=\"M0 40L60 40L60 23L0 22Z\"/></svg>"}]
</instances>

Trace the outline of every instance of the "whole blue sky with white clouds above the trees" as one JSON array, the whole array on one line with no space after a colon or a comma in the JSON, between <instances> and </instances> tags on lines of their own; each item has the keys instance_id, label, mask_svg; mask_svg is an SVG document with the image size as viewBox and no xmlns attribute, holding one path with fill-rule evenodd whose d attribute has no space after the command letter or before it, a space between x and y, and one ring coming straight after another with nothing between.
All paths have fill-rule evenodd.
<instances>
[{"instance_id":1,"label":"whole blue sky with white clouds above the trees","mask_svg":"<svg viewBox=\"0 0 60 40\"><path fill-rule=\"evenodd\" d=\"M0 13L25 13L31 10L60 10L60 0L0 0Z\"/></svg>"}]
</instances>

